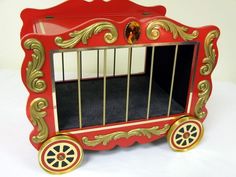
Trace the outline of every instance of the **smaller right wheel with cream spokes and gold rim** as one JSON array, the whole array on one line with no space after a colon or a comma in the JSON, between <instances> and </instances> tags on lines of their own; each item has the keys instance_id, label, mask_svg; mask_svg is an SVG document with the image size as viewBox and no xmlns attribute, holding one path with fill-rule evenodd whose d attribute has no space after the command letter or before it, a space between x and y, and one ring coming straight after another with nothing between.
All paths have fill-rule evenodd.
<instances>
[{"instance_id":1,"label":"smaller right wheel with cream spokes and gold rim","mask_svg":"<svg viewBox=\"0 0 236 177\"><path fill-rule=\"evenodd\" d=\"M202 123L192 117L184 117L176 121L170 128L167 139L175 151L188 151L200 142L203 136Z\"/></svg>"}]
</instances>

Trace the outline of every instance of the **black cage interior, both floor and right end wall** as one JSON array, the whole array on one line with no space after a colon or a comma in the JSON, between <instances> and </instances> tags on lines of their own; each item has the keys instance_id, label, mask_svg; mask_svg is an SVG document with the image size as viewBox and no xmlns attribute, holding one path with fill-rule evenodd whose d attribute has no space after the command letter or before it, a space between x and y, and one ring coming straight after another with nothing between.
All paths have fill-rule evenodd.
<instances>
[{"instance_id":1,"label":"black cage interior, both floor and right end wall","mask_svg":"<svg viewBox=\"0 0 236 177\"><path fill-rule=\"evenodd\" d=\"M185 111L194 46L179 45L171 114ZM166 116L176 46L155 47L155 60L150 102L150 118ZM147 47L146 72L130 80L129 121L147 116L152 47ZM78 128L78 82L55 83L59 129ZM107 78L106 124L124 122L126 113L127 76ZM81 81L82 126L102 125L103 79Z\"/></svg>"}]
</instances>

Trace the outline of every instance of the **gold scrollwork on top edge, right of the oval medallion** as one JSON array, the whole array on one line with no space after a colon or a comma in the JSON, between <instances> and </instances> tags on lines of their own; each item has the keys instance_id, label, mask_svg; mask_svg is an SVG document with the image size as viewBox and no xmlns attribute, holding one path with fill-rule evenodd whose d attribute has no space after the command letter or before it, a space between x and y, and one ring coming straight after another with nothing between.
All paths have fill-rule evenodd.
<instances>
[{"instance_id":1,"label":"gold scrollwork on top edge, right of the oval medallion","mask_svg":"<svg viewBox=\"0 0 236 177\"><path fill-rule=\"evenodd\" d=\"M163 28L166 31L170 31L173 34L173 38L177 39L179 36L185 41L191 41L198 37L199 32L197 30L192 33L187 33L188 28L184 26L178 26L169 20L159 19L153 20L147 27L146 35L150 40L157 40L160 37L159 28Z\"/></svg>"}]
</instances>

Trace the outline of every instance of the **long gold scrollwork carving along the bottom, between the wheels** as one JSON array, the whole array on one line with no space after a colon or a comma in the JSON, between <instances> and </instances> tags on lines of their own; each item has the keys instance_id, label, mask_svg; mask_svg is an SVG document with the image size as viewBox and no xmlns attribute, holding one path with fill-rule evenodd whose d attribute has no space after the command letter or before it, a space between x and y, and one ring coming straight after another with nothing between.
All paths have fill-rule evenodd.
<instances>
[{"instance_id":1,"label":"long gold scrollwork carving along the bottom, between the wheels","mask_svg":"<svg viewBox=\"0 0 236 177\"><path fill-rule=\"evenodd\" d=\"M98 135L95 136L94 140L89 140L88 137L83 137L82 141L87 146L97 146L99 144L102 144L104 146L108 145L108 143L112 140L118 140L121 138L129 139L133 136L146 136L147 138L151 138L153 135L162 135L166 133L170 128L170 125L166 124L162 129L160 129L158 126L152 127L152 128L138 128L131 130L129 132L114 132L107 135Z\"/></svg>"}]
</instances>

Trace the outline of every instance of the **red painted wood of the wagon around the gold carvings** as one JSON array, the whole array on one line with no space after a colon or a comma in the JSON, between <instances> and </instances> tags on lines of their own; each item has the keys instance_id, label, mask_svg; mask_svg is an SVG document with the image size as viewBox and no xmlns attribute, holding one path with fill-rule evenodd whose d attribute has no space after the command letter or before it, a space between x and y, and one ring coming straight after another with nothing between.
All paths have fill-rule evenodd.
<instances>
[{"instance_id":1,"label":"red painted wood of the wagon around the gold carvings","mask_svg":"<svg viewBox=\"0 0 236 177\"><path fill-rule=\"evenodd\" d=\"M99 7L99 8L98 8ZM143 15L143 13L149 12L150 15ZM195 116L194 108L198 100L198 83L201 80L208 80L211 83L211 76L202 76L200 75L200 67L202 66L203 59L205 58L204 51L204 40L207 34L212 30L219 30L215 26L205 26L201 28L192 28L181 23L178 23L172 19L165 17L165 8L162 6L155 7L142 7L136 5L128 0L120 1L120 0L112 0L110 2L103 2L102 0L95 0L92 3L85 2L83 0L70 0L56 7L46 9L46 10L36 10L36 9L26 9L22 12L21 18L24 22L21 31L21 41L22 48L27 39L35 38L43 44L45 48L45 64L42 68L44 73L43 80L46 81L47 89L42 94L36 94L29 91L29 98L27 104L27 116L30 119L30 103L34 98L42 97L48 100L49 106L46 109L47 116L45 121L49 127L49 137L53 137L57 134L55 131L55 122L54 122L54 112L53 112L53 100L52 100L52 80L51 80L51 68L50 68L50 51L59 50L60 48L55 44L55 37L61 36L63 39L69 39L68 34L75 30L81 30L88 27L91 24L100 21L111 22L118 29L118 40L109 45L104 42L103 37L106 31L102 31L101 33L94 35L92 38L88 40L88 44L84 45L79 43L75 46L75 48L89 48L89 47L102 47L102 46L123 46L128 45L127 40L124 37L124 29L126 25L131 21L137 21L141 25L141 36L137 41L137 45L140 44L156 44L156 43L171 43L171 42L185 42L182 38L178 37L177 39L173 39L173 34L165 31L160 28L160 38L156 41L151 41L146 36L146 28L151 20L154 19L167 19L171 22L174 22L177 25L187 27L188 33L193 32L194 30L199 31L199 37L193 40L193 42L200 43L199 51L198 51L198 60L196 63L196 73L192 71L192 75L195 75L193 83L193 99L191 104L190 116ZM45 18L47 16L51 16L53 18ZM42 22L45 26L46 34L42 34L42 31L39 29L39 22ZM101 40L102 39L102 40ZM213 41L214 46L216 46L217 39ZM25 59L22 64L22 80L26 85L26 68L28 62L32 60L31 50L25 50ZM218 58L218 51L216 50L216 62ZM27 88L27 86L26 86ZM205 111L206 108L204 108ZM183 114L186 115L186 114ZM179 116L177 116L179 117ZM135 136L129 139L121 138L117 141L112 140L107 146L98 145L95 147L88 147L82 143L82 137L86 136L90 139L94 139L96 135L105 135L117 131L125 131L128 132L137 128L151 128L153 126L163 127L165 124L173 124L174 120L165 120L166 117L158 117L160 122L158 123L148 123L148 124L140 124L135 126L124 126L121 128L113 128L109 130L100 130L93 131L90 133L78 133L71 135L76 138L84 149L90 150L105 150L112 149L116 145L121 147L127 147L132 145L134 142L139 142L141 144L148 143L154 140L157 140L165 135L161 136L153 136L148 139L145 136ZM155 119L155 118L153 118ZM204 120L204 119L203 119ZM120 124L117 124L120 125ZM124 124L126 125L126 124ZM91 129L91 128L90 128ZM64 133L66 133L65 131ZM37 134L37 128L31 132L30 139L32 136ZM41 147L41 144L35 144L31 142L36 149Z\"/></svg>"}]
</instances>

